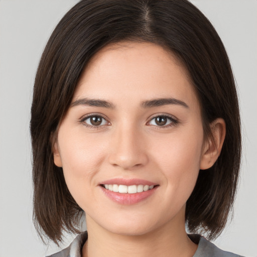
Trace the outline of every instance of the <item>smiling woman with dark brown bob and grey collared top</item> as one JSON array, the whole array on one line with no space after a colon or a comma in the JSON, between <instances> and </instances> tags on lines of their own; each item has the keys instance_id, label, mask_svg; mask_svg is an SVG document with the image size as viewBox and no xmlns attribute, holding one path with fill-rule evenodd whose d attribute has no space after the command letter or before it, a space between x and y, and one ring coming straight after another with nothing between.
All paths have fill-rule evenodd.
<instances>
[{"instance_id":1,"label":"smiling woman with dark brown bob and grey collared top","mask_svg":"<svg viewBox=\"0 0 257 257\"><path fill-rule=\"evenodd\" d=\"M53 256L238 256L199 235L225 226L241 136L223 44L189 2L73 7L39 64L31 135L38 230L58 243L86 214Z\"/></svg>"}]
</instances>

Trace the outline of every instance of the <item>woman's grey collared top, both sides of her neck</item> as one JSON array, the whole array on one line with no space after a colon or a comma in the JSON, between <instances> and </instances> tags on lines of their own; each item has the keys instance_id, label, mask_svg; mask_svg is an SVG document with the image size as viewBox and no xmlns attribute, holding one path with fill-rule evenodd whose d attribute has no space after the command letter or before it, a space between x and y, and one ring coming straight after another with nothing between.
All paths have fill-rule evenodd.
<instances>
[{"instance_id":1,"label":"woman's grey collared top, both sides of her neck","mask_svg":"<svg viewBox=\"0 0 257 257\"><path fill-rule=\"evenodd\" d=\"M193 242L198 243L198 248L193 257L243 257L232 252L223 251L204 237L195 234L188 235ZM72 243L65 249L49 255L48 257L81 257L82 247L87 240L87 231L77 235Z\"/></svg>"}]
</instances>

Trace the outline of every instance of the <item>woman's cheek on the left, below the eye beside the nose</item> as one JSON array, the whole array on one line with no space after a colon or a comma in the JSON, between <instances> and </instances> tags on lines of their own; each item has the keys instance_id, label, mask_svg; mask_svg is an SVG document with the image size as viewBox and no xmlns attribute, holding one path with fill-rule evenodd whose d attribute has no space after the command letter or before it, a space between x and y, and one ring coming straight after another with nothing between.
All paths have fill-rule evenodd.
<instances>
[{"instance_id":1,"label":"woman's cheek on the left, below the eye beside the nose","mask_svg":"<svg viewBox=\"0 0 257 257\"><path fill-rule=\"evenodd\" d=\"M86 199L90 199L88 196L96 186L94 177L104 160L105 146L103 142L94 137L85 137L80 132L60 130L59 139L65 182L71 195L83 209L84 196L87 195Z\"/></svg>"}]
</instances>

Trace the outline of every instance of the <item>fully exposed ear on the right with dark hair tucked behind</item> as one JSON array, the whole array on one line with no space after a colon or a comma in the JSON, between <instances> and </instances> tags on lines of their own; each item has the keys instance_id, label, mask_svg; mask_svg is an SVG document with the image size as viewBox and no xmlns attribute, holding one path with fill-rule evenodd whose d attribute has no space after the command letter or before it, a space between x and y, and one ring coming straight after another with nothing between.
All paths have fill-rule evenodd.
<instances>
[{"instance_id":1,"label":"fully exposed ear on the right with dark hair tucked behind","mask_svg":"<svg viewBox=\"0 0 257 257\"><path fill-rule=\"evenodd\" d=\"M200 169L206 170L218 159L226 135L226 123L223 118L217 118L210 124L212 138L206 140L202 150Z\"/></svg>"}]
</instances>

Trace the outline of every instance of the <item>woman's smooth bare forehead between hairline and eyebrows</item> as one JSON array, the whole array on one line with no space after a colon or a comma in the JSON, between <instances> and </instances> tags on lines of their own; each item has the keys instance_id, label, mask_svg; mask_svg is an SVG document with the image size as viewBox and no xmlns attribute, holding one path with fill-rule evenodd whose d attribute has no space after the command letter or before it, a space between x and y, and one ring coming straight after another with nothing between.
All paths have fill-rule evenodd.
<instances>
[{"instance_id":1,"label":"woman's smooth bare forehead between hairline and eyebrows","mask_svg":"<svg viewBox=\"0 0 257 257\"><path fill-rule=\"evenodd\" d=\"M73 99L80 96L119 95L124 100L188 98L197 101L186 69L179 59L153 43L120 42L97 52L85 67ZM189 99L190 98L190 99Z\"/></svg>"}]
</instances>

